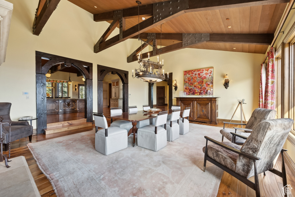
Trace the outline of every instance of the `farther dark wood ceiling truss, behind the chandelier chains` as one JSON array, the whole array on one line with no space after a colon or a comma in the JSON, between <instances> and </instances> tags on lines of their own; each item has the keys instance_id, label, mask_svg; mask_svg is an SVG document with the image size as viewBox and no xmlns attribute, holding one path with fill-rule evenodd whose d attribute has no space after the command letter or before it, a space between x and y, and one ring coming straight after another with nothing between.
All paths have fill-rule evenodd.
<instances>
[{"instance_id":1,"label":"farther dark wood ceiling truss, behind the chandelier chains","mask_svg":"<svg viewBox=\"0 0 295 197\"><path fill-rule=\"evenodd\" d=\"M138 36L134 36L132 38L138 38ZM171 51L176 51L182 48L192 47L197 44L201 44L204 42L212 42L212 43L240 43L240 44L257 44L257 45L270 45L273 40L273 34L207 34L207 33L142 33L139 38L143 40L147 40L147 43L155 42L155 40L176 40L181 41L176 44L172 44L169 46L165 46L161 48L161 52L159 50L153 49L153 51L149 51L146 53L142 53L142 58L148 58L148 53L150 57L157 56L159 53L168 53ZM148 44L144 43L139 48L137 48L130 56L127 57L127 62L137 61L137 54L142 51ZM157 44L153 44L154 47Z\"/></svg>"}]
</instances>

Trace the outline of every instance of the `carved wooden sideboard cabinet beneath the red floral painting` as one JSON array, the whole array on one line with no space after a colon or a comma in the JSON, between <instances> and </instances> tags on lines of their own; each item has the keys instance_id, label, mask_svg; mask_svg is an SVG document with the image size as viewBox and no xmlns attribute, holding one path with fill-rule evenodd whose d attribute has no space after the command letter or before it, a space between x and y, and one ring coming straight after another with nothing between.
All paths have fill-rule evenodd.
<instances>
[{"instance_id":1,"label":"carved wooden sideboard cabinet beneath the red floral painting","mask_svg":"<svg viewBox=\"0 0 295 197\"><path fill-rule=\"evenodd\" d=\"M219 97L175 97L176 105L181 110L191 107L190 121L199 121L209 124L218 124L218 98Z\"/></svg>"}]
</instances>

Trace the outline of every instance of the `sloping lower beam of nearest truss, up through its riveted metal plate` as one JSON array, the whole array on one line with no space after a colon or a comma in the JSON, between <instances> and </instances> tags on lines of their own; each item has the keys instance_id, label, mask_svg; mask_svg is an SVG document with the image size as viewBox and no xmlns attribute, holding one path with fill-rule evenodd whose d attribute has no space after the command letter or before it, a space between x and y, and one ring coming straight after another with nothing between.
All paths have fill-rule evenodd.
<instances>
[{"instance_id":1,"label":"sloping lower beam of nearest truss, up through its riveted metal plate","mask_svg":"<svg viewBox=\"0 0 295 197\"><path fill-rule=\"evenodd\" d=\"M122 31L120 28L119 35L116 35L113 38L110 38L109 40L106 40L104 42L102 42L102 40L99 40L94 45L94 53L103 51L124 40L134 37L138 33L145 32L153 27L156 27L164 22L167 22L173 18L176 18L184 14L183 10L189 7L189 0L171 0L169 2L165 1L161 3L155 3L153 4L153 6L157 8L156 10L153 11L153 17L150 17L140 22L139 28L138 28L138 25L130 27L127 30L122 29ZM118 12L121 12L121 11L118 11ZM116 17L116 12L114 12L114 17Z\"/></svg>"}]
</instances>

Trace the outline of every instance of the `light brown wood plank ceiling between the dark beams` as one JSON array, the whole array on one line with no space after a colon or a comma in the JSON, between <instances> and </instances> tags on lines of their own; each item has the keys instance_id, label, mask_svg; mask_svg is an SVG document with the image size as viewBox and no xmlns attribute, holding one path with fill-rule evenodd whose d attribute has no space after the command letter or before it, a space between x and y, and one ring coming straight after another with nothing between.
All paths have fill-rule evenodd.
<instances>
[{"instance_id":1,"label":"light brown wood plank ceiling between the dark beams","mask_svg":"<svg viewBox=\"0 0 295 197\"><path fill-rule=\"evenodd\" d=\"M135 0L68 0L91 14L101 14L120 9L137 7ZM143 5L162 2L163 0L141 0ZM193 0L190 0L190 3ZM214 4L219 0L196 0L196 2L212 2ZM227 0L235 2L234 0ZM265 0L266 1L266 0ZM287 2L283 0L273 0L271 3L261 3L262 1L241 0L242 6L229 5L222 6L222 9L214 9L214 6L209 9L202 9L198 12L186 12L178 17L175 17L162 25L162 33L209 33L209 34L274 34ZM239 2L239 3L240 3ZM278 4L275 4L278 3ZM236 3L232 3L236 4ZM249 5L249 6L247 6ZM137 9L137 8L136 8ZM140 16L140 22L142 22ZM151 17L145 16L146 19ZM146 20L145 19L145 20ZM111 23L112 21L108 21ZM138 24L138 16L125 18L126 30ZM118 25L119 27L119 25ZM230 28L229 28L230 27ZM145 33L160 33L160 25L150 28ZM162 45L167 46L181 42L179 40L163 40ZM158 44L159 44L158 40ZM140 45L140 44L139 44ZM219 43L219 42L204 42L190 48L211 49L220 51L236 51L245 53L262 53L265 54L268 45L264 44L247 44L247 43Z\"/></svg>"}]
</instances>

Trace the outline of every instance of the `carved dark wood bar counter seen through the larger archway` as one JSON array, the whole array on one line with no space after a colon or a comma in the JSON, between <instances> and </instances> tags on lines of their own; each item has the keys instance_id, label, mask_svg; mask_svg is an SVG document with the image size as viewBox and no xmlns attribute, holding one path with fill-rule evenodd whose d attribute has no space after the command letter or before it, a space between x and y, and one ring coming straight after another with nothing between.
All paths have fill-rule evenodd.
<instances>
[{"instance_id":1,"label":"carved dark wood bar counter seen through the larger archway","mask_svg":"<svg viewBox=\"0 0 295 197\"><path fill-rule=\"evenodd\" d=\"M70 98L47 98L46 108L47 114L85 111L85 100Z\"/></svg>"}]
</instances>

